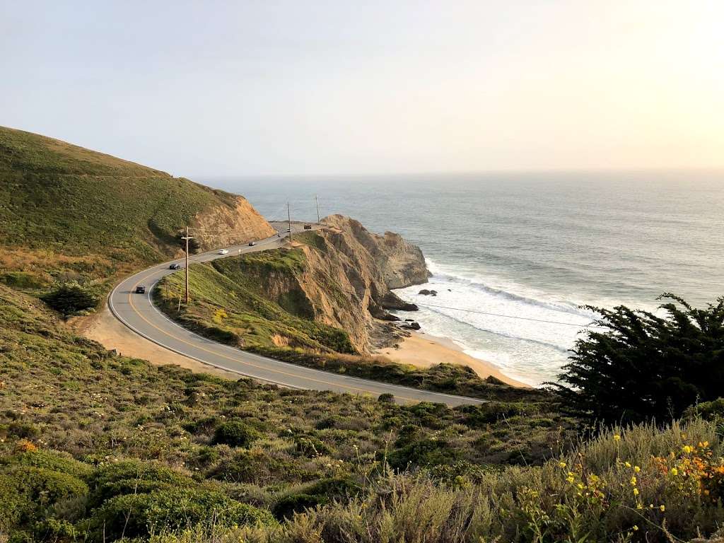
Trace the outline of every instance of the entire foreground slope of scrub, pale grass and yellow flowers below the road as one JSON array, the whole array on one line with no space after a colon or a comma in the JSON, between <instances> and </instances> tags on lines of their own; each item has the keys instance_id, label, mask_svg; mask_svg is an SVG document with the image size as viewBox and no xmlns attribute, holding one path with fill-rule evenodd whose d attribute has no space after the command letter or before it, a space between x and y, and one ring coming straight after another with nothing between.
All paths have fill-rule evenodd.
<instances>
[{"instance_id":1,"label":"entire foreground slope of scrub, pale grass and yellow flowers below the road","mask_svg":"<svg viewBox=\"0 0 724 543\"><path fill-rule=\"evenodd\" d=\"M578 441L542 404L154 367L39 304L0 287L0 539L670 542L724 522L721 402Z\"/></svg>"}]
</instances>

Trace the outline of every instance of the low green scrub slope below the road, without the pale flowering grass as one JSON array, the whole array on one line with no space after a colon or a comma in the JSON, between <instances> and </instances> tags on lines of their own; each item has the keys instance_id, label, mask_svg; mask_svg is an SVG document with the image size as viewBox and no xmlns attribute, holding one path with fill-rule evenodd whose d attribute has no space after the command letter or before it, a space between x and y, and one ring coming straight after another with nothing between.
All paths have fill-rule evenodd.
<instances>
[{"instance_id":1,"label":"low green scrub slope below the road, without the pale flowering grass","mask_svg":"<svg viewBox=\"0 0 724 543\"><path fill-rule=\"evenodd\" d=\"M384 460L468 480L542 463L568 426L543 403L401 406L159 368L70 334L0 286L0 540L276 529L364 494Z\"/></svg>"}]
</instances>

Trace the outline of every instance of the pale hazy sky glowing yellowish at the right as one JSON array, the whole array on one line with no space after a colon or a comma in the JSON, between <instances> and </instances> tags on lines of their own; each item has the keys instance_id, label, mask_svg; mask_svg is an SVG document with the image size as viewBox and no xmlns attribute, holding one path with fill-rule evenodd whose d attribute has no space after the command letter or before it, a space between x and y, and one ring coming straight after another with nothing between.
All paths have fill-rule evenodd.
<instances>
[{"instance_id":1,"label":"pale hazy sky glowing yellowish at the right","mask_svg":"<svg viewBox=\"0 0 724 543\"><path fill-rule=\"evenodd\" d=\"M724 1L0 0L0 125L175 175L724 167Z\"/></svg>"}]
</instances>

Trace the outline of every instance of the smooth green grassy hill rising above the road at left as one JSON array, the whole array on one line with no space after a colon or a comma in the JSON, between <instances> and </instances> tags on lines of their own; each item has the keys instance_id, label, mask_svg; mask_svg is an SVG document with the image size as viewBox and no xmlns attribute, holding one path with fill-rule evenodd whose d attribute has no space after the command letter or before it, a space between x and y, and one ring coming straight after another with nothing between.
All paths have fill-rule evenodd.
<instances>
[{"instance_id":1,"label":"smooth green grassy hill rising above the road at left","mask_svg":"<svg viewBox=\"0 0 724 543\"><path fill-rule=\"evenodd\" d=\"M0 127L0 282L109 278L176 251L191 217L234 197L103 153ZM103 290L103 288L101 288Z\"/></svg>"}]
</instances>

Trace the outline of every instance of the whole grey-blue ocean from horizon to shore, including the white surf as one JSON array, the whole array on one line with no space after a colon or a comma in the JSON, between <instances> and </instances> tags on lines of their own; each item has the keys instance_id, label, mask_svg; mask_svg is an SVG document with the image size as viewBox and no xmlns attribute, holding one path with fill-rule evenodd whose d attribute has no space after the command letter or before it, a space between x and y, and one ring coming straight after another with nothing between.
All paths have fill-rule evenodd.
<instances>
[{"instance_id":1,"label":"whole grey-blue ocean from horizon to shore, including the white surf","mask_svg":"<svg viewBox=\"0 0 724 543\"><path fill-rule=\"evenodd\" d=\"M207 178L269 219L341 213L399 232L432 278L398 290L424 332L503 373L555 381L584 305L655 311L674 292L724 295L724 172L545 172L390 177ZM420 295L437 290L435 297Z\"/></svg>"}]
</instances>

